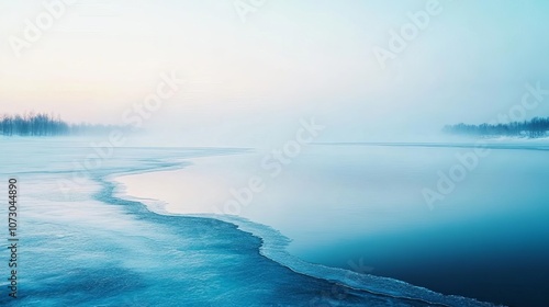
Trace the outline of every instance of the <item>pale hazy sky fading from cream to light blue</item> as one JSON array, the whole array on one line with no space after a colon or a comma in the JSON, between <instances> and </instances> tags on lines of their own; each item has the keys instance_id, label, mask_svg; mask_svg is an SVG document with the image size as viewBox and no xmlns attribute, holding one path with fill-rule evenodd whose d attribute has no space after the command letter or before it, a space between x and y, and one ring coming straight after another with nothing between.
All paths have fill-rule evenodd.
<instances>
[{"instance_id":1,"label":"pale hazy sky fading from cream to light blue","mask_svg":"<svg viewBox=\"0 0 549 307\"><path fill-rule=\"evenodd\" d=\"M324 140L367 140L488 122L520 102L526 82L549 89L541 0L440 0L442 12L381 69L372 48L426 2L267 1L243 23L232 0L81 0L16 58L9 37L44 9L3 0L0 111L117 124L176 70L189 83L149 129L255 143L314 116ZM549 96L536 115L549 115Z\"/></svg>"}]
</instances>

